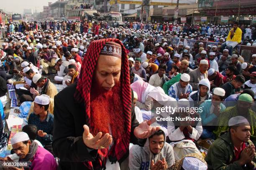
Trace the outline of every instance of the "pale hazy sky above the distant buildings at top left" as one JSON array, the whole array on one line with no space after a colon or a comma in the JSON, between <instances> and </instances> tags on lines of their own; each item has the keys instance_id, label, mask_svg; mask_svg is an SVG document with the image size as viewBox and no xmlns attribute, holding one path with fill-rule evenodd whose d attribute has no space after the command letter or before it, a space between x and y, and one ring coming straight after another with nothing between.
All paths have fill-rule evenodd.
<instances>
[{"instance_id":1,"label":"pale hazy sky above the distant buildings at top left","mask_svg":"<svg viewBox=\"0 0 256 170\"><path fill-rule=\"evenodd\" d=\"M48 6L48 2L57 0L0 0L0 8L8 12L23 13L23 9L37 9L43 11L43 6Z\"/></svg>"}]
</instances>

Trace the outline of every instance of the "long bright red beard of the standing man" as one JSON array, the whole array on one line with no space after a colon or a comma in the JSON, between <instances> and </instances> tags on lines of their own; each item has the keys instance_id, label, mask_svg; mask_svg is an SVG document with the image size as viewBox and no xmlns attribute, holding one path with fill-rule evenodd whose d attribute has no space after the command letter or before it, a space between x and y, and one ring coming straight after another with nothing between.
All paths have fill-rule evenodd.
<instances>
[{"instance_id":1,"label":"long bright red beard of the standing man","mask_svg":"<svg viewBox=\"0 0 256 170\"><path fill-rule=\"evenodd\" d=\"M92 135L110 133L114 139L122 138L124 130L123 102L120 83L107 91L92 85L90 101L90 130ZM102 135L102 136L103 136Z\"/></svg>"}]
</instances>

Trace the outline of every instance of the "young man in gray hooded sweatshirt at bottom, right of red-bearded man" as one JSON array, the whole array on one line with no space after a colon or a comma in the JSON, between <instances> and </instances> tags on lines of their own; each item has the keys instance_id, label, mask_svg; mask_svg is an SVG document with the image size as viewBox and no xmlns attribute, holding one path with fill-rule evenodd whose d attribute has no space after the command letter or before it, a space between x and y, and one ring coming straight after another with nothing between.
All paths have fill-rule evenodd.
<instances>
[{"instance_id":1,"label":"young man in gray hooded sweatshirt at bottom, right of red-bearded man","mask_svg":"<svg viewBox=\"0 0 256 170\"><path fill-rule=\"evenodd\" d=\"M174 164L173 148L166 143L164 131L151 135L144 147L133 145L129 155L130 170L165 170Z\"/></svg>"}]
</instances>

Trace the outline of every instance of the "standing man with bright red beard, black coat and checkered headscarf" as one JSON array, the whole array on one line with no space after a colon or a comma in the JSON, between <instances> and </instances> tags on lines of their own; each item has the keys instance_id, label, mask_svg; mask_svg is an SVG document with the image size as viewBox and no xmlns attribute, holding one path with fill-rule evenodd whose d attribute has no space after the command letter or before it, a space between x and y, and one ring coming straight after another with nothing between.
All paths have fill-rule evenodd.
<instances>
[{"instance_id":1,"label":"standing man with bright red beard, black coat and checkered headscarf","mask_svg":"<svg viewBox=\"0 0 256 170\"><path fill-rule=\"evenodd\" d=\"M79 81L54 98L54 153L61 169L100 170L109 160L126 170L129 143L143 145L160 128L136 120L120 40L93 41L84 58Z\"/></svg>"}]
</instances>

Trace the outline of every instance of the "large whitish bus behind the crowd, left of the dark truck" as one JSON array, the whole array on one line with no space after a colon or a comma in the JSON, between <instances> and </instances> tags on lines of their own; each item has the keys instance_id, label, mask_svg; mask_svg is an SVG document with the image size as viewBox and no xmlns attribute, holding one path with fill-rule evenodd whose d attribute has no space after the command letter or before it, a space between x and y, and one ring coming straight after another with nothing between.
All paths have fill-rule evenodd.
<instances>
[{"instance_id":1,"label":"large whitish bus behind the crowd, left of the dark truck","mask_svg":"<svg viewBox=\"0 0 256 170\"><path fill-rule=\"evenodd\" d=\"M91 9L82 9L82 10L71 10L68 12L67 20L92 20L90 16L93 15L93 13L97 13L97 10L91 10ZM89 18L88 18L89 17Z\"/></svg>"}]
</instances>

